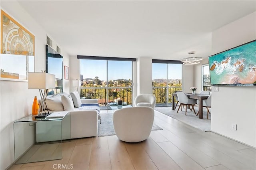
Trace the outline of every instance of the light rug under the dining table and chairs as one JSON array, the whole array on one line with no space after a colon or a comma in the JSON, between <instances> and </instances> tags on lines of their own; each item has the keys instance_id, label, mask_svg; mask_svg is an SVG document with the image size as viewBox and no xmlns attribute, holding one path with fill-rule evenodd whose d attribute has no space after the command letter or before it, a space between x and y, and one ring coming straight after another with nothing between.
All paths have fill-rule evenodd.
<instances>
[{"instance_id":1,"label":"light rug under the dining table and chairs","mask_svg":"<svg viewBox=\"0 0 256 170\"><path fill-rule=\"evenodd\" d=\"M207 119L205 108L203 109L203 119L199 119L193 111L191 112L189 110L187 111L187 115L185 115L185 109L182 109L182 111L179 110L179 113L177 113L178 107L174 111L172 107L155 107L155 110L202 131L211 130L211 114L209 114ZM195 107L195 111L196 113L198 112L198 107Z\"/></svg>"}]
</instances>

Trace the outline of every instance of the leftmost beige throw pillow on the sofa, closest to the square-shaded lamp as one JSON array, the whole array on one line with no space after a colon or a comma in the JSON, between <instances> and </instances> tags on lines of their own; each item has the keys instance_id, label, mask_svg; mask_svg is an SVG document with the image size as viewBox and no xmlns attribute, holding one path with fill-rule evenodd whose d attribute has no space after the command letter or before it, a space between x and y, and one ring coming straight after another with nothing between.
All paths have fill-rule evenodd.
<instances>
[{"instance_id":1,"label":"leftmost beige throw pillow on the sofa, closest to the square-shaded lamp","mask_svg":"<svg viewBox=\"0 0 256 170\"><path fill-rule=\"evenodd\" d=\"M64 111L64 108L61 102L61 96L58 94L50 98L46 98L45 102L48 107L48 110L50 111Z\"/></svg>"}]
</instances>

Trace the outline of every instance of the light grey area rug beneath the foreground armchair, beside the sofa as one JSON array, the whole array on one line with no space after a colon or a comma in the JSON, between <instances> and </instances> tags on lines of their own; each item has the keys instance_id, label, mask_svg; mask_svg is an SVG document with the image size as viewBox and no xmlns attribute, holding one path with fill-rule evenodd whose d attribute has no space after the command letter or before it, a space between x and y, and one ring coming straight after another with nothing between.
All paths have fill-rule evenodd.
<instances>
[{"instance_id":1,"label":"light grey area rug beneath the foreground armchair, beside the sofa","mask_svg":"<svg viewBox=\"0 0 256 170\"><path fill-rule=\"evenodd\" d=\"M98 123L98 136L110 136L115 135L113 125L113 113L103 113L100 115L101 124ZM153 124L152 130L162 130L162 128Z\"/></svg>"}]
</instances>

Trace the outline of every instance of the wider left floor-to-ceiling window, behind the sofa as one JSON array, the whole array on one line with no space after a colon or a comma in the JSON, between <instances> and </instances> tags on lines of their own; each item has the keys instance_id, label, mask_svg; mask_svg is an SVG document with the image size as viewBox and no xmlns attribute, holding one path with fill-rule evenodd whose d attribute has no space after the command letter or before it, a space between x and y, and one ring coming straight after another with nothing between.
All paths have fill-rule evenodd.
<instances>
[{"instance_id":1,"label":"wider left floor-to-ceiling window, behind the sofa","mask_svg":"<svg viewBox=\"0 0 256 170\"><path fill-rule=\"evenodd\" d=\"M122 105L132 105L132 61L135 59L91 59L90 56L80 59L80 96L98 99L102 109L110 109L118 101L122 101Z\"/></svg>"}]
</instances>

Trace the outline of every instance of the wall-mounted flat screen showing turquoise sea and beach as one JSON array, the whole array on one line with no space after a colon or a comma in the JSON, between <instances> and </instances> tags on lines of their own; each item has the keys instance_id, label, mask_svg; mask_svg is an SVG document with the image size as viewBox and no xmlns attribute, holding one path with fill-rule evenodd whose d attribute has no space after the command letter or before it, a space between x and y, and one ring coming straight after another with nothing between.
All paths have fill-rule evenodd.
<instances>
[{"instance_id":1,"label":"wall-mounted flat screen showing turquoise sea and beach","mask_svg":"<svg viewBox=\"0 0 256 170\"><path fill-rule=\"evenodd\" d=\"M256 81L256 40L208 57L211 85L252 86Z\"/></svg>"}]
</instances>

